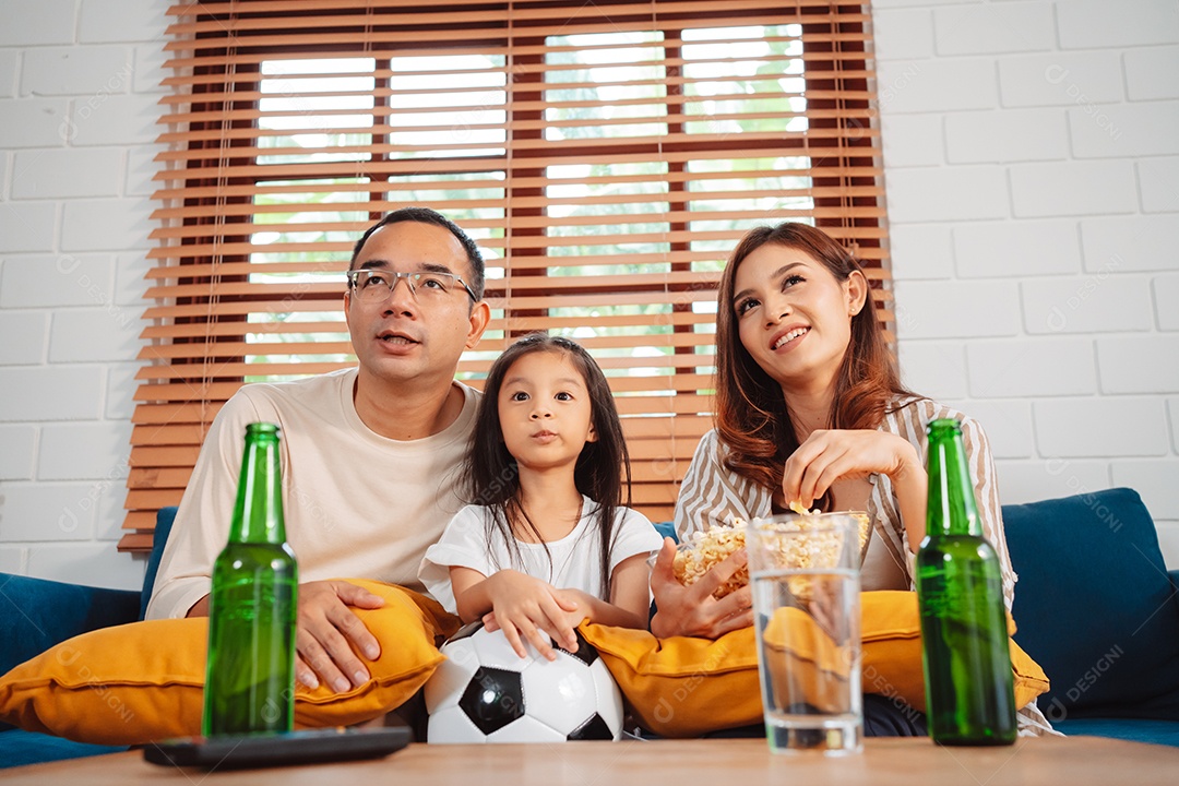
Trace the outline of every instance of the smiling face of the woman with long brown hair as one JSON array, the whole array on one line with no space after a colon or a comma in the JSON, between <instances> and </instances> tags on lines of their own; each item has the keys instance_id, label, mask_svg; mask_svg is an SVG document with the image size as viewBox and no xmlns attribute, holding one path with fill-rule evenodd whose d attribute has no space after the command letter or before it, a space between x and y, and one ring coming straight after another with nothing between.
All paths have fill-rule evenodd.
<instances>
[{"instance_id":1,"label":"smiling face of the woman with long brown hair","mask_svg":"<svg viewBox=\"0 0 1179 786\"><path fill-rule=\"evenodd\" d=\"M766 243L737 267L732 309L740 343L782 385L834 379L868 293L863 275L838 280L805 251Z\"/></svg>"}]
</instances>

